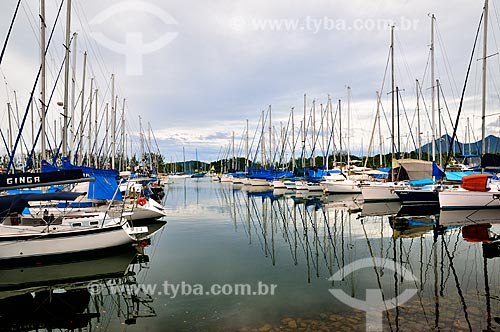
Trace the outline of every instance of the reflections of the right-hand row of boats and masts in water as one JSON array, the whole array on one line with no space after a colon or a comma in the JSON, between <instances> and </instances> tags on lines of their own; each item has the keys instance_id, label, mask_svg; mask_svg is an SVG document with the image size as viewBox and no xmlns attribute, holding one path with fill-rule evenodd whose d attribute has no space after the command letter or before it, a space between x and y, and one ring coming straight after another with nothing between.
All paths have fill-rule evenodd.
<instances>
[{"instance_id":1,"label":"reflections of the right-hand row of boats and masts in water","mask_svg":"<svg viewBox=\"0 0 500 332\"><path fill-rule=\"evenodd\" d=\"M384 314L387 330L499 328L500 218L495 211L408 209L393 202L363 204L353 196L247 190L229 185L215 190L235 232L243 232L248 245L258 244L262 258L272 266L303 266L307 284L341 288L356 298L363 298L369 288L380 289L386 299L405 289L418 289L411 301L399 303ZM394 267L354 271L340 282L322 284L336 271L366 257L388 259ZM405 280L402 268L418 280ZM292 319L307 322L304 327L309 328L365 329L363 312L340 303L324 311L338 302L334 298L329 301L315 308L316 315L304 307L303 315L271 325L287 329Z\"/></svg>"}]
</instances>

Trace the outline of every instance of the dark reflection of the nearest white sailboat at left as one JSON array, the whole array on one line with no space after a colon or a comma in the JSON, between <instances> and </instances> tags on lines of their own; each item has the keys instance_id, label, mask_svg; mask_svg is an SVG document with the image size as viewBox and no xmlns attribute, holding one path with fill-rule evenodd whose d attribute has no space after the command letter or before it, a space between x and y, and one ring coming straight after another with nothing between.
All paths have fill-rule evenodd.
<instances>
[{"instance_id":1,"label":"dark reflection of the nearest white sailboat at left","mask_svg":"<svg viewBox=\"0 0 500 332\"><path fill-rule=\"evenodd\" d=\"M164 224L150 221L150 235ZM3 266L0 330L108 331L155 317L153 297L139 284L150 249L151 238L104 253Z\"/></svg>"}]
</instances>

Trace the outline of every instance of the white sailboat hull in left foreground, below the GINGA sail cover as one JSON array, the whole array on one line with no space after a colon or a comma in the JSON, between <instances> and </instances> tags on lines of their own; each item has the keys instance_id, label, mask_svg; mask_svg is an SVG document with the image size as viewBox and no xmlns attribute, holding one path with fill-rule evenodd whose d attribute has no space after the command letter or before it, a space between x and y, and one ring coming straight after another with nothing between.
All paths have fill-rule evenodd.
<instances>
[{"instance_id":1,"label":"white sailboat hull in left foreground, below the GINGA sail cover","mask_svg":"<svg viewBox=\"0 0 500 332\"><path fill-rule=\"evenodd\" d=\"M72 201L79 195L55 192L1 196L0 261L5 264L99 252L149 236L148 226L133 227L124 216L113 217L107 211L58 216L49 215L47 210L43 216L24 213L33 202Z\"/></svg>"}]
</instances>

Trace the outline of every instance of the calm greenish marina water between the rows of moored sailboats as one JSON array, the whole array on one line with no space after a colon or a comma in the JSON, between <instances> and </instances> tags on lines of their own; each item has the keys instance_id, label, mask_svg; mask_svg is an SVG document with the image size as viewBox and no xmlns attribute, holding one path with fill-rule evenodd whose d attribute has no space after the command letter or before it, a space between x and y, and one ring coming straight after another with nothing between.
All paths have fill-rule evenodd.
<instances>
[{"instance_id":1,"label":"calm greenish marina water between the rows of moored sailboats","mask_svg":"<svg viewBox=\"0 0 500 332\"><path fill-rule=\"evenodd\" d=\"M165 205L168 223L144 249L149 262L130 264L134 253L122 252L0 278L26 278L31 294L34 275L40 290L90 289L85 312L99 317L84 330L365 331L366 312L338 294L364 302L367 290L385 301L372 310L384 331L500 330L499 211L398 213L395 203L249 192L210 179L176 180ZM75 277L68 284L58 273ZM263 295L229 294L242 284ZM208 294L213 285L228 295ZM26 292L17 288L2 293L0 309Z\"/></svg>"}]
</instances>

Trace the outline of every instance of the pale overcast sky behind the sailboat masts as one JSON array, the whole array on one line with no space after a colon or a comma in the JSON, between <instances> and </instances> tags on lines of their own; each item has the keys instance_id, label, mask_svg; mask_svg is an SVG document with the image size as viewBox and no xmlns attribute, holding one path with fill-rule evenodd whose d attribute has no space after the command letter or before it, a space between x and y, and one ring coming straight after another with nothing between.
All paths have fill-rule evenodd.
<instances>
[{"instance_id":1,"label":"pale overcast sky behind the sailboat masts","mask_svg":"<svg viewBox=\"0 0 500 332\"><path fill-rule=\"evenodd\" d=\"M126 132L131 141L127 151L139 149L140 117L146 138L148 128L154 133L151 138L154 150L157 145L166 160L174 161L183 159L183 148L188 160L195 159L196 152L199 160L218 159L227 154L233 132L235 149L242 151L246 120L252 140L261 112L267 111L269 105L276 133L280 132L281 124L286 126L291 108L294 108L298 128L303 117L304 94L308 112L315 101L317 119L321 105L327 104L329 96L334 109L338 100L342 101L343 144L349 141L350 150L361 154L368 149L377 108L376 91L380 91L385 114L381 134L384 152L388 152L391 89L386 65L391 24L395 25L395 77L401 90L400 109L406 112L400 115L401 135L403 146L412 149L408 127L415 135L416 79L421 82L427 108L431 105L430 14L436 17L435 78L440 79L443 90L442 134L446 131L451 134L450 118L455 121L483 9L482 1L465 0L72 2L71 31L78 34L75 90L78 96L83 85L83 53L87 52L85 110L93 78L93 88L98 89L99 145L105 142L104 109L106 103L111 103L110 77L114 74L118 119L125 98ZM16 4L15 0L0 4L2 42ZM46 0L47 35L60 4L60 0ZM61 76L55 84L55 77L64 59L65 6L64 3L46 57L48 94L55 86L48 115L49 141L53 142L61 138L62 107L57 102L63 101L64 82ZM491 57L488 58L487 112L492 115L487 117L487 134L496 135L500 128L496 114L500 83L496 55L499 6L498 1L490 1L488 29ZM15 112L14 91L17 97L18 116L11 121L14 135L19 131L17 123L25 114L40 64L38 13L39 1L22 2L0 64L4 83L4 89L0 89L0 105L10 102ZM482 57L481 45L482 35L474 54L458 131L461 141L467 139L467 117L472 137L481 136L481 61L477 61ZM74 52L71 53L72 65ZM352 96L349 121L348 87ZM38 101L39 90L35 91ZM431 115L425 113L422 104L421 100L421 133L422 144L425 144L431 136ZM7 106L3 107L7 110ZM76 124L80 121L80 111L77 103L73 117ZM36 114L35 127L39 123ZM95 115L92 116L94 121ZM30 121L28 116L27 122ZM10 132L8 122L8 112L1 112L0 128L5 136ZM117 128L121 128L119 120ZM87 127L84 136L86 132ZM338 138L339 134L336 135ZM31 125L25 127L22 136L26 146L31 146ZM0 147L0 151L5 151L3 144ZM255 147L252 152L255 153Z\"/></svg>"}]
</instances>

